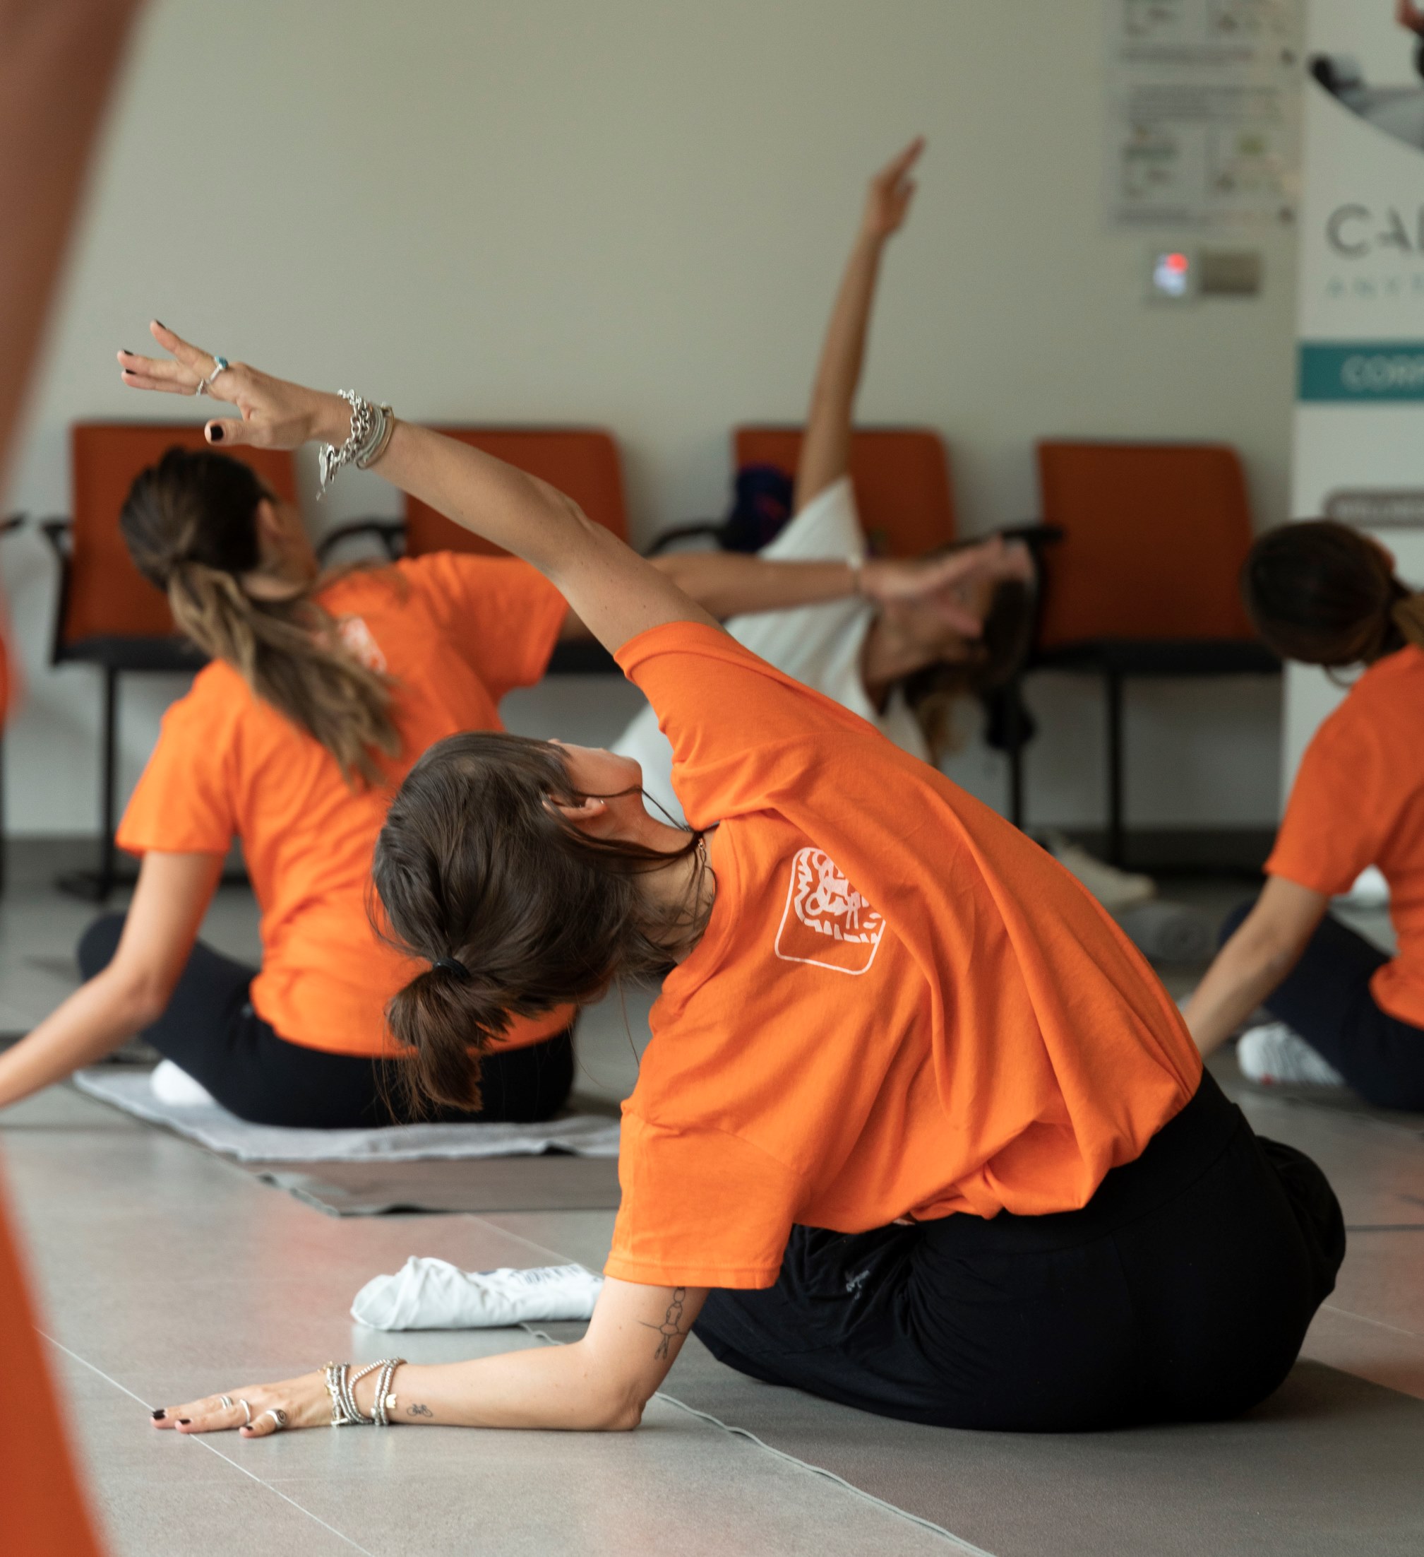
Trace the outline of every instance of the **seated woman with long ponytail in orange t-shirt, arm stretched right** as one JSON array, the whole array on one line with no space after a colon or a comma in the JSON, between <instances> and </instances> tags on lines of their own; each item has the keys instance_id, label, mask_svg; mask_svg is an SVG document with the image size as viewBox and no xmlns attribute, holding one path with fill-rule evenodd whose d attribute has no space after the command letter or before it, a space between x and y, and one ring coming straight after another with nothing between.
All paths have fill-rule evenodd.
<instances>
[{"instance_id":1,"label":"seated woman with long ponytail in orange t-shirt, arm stretched right","mask_svg":"<svg viewBox=\"0 0 1424 1557\"><path fill-rule=\"evenodd\" d=\"M160 325L154 335L177 346ZM216 377L223 388L235 375ZM367 917L377 831L433 741L498 730L504 693L538 680L556 640L587 629L512 559L433 554L321 575L300 514L219 453L170 452L134 483L121 526L212 663L163 719L123 817L118 841L143 858L132 906L84 934L84 986L0 1056L0 1107L142 1032L244 1119L339 1129L405 1116L384 1007L411 965ZM977 626L960 603L977 557L658 567L714 613L859 590ZM261 909L260 970L196 940L235 838ZM573 1004L556 1003L510 1023L478 1096L434 1116L549 1118L573 1079L571 1021Z\"/></svg>"}]
</instances>

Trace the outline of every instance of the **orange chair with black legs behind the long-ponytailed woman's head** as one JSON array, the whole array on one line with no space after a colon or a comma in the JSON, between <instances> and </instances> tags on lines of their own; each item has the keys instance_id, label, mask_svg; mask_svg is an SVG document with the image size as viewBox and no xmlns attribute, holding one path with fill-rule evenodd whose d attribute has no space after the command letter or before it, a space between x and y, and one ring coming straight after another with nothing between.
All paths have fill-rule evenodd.
<instances>
[{"instance_id":1,"label":"orange chair with black legs behind the long-ponytailed woman's head","mask_svg":"<svg viewBox=\"0 0 1424 1557\"><path fill-rule=\"evenodd\" d=\"M134 476L170 448L207 448L202 427L173 422L76 422L70 433L73 517L48 518L42 529L59 557L59 606L54 613L53 665L81 662L104 673L100 867L64 877L61 886L103 902L118 881L114 849L117 822L118 677L126 671L193 671L202 657L177 637L163 593L129 561L118 512ZM289 453L233 447L289 503L296 470Z\"/></svg>"}]
</instances>

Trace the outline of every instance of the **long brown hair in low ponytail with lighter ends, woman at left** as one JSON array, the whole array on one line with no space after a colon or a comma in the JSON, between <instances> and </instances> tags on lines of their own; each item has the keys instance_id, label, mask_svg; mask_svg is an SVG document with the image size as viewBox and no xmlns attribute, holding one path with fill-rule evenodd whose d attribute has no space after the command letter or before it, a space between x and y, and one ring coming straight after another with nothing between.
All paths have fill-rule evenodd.
<instances>
[{"instance_id":1,"label":"long brown hair in low ponytail with lighter ends, woman at left","mask_svg":"<svg viewBox=\"0 0 1424 1557\"><path fill-rule=\"evenodd\" d=\"M341 648L310 590L255 599L243 589L243 576L261 565L265 498L251 466L170 448L134 481L118 523L134 565L168 595L182 632L319 741L352 788L378 783L378 755L400 750L389 680Z\"/></svg>"}]
</instances>

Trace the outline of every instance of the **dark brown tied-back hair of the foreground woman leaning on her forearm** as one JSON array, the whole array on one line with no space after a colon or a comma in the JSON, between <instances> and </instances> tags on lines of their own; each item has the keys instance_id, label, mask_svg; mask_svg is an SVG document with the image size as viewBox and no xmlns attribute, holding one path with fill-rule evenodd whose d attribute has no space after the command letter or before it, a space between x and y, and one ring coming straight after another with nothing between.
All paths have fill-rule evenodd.
<instances>
[{"instance_id":1,"label":"dark brown tied-back hair of the foreground woman leaning on her forearm","mask_svg":"<svg viewBox=\"0 0 1424 1557\"><path fill-rule=\"evenodd\" d=\"M386 1007L406 1112L479 1107L479 1051L514 1017L596 1000L613 979L658 979L705 923L700 878L658 909L640 887L671 859L595 838L559 802L587 799L548 741L473 732L433 746L400 786L375 847L381 934L430 967ZM372 905L375 908L375 905Z\"/></svg>"}]
</instances>

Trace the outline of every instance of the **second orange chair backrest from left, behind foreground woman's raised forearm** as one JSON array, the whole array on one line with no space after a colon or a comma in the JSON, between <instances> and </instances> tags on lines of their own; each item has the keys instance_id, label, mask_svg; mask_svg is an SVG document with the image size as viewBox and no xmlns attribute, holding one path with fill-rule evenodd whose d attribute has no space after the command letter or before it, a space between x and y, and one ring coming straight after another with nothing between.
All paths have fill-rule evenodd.
<instances>
[{"instance_id":1,"label":"second orange chair backrest from left, behind foreground woman's raised forearm","mask_svg":"<svg viewBox=\"0 0 1424 1557\"><path fill-rule=\"evenodd\" d=\"M593 427L442 427L439 431L559 487L596 525L627 540L623 464L612 433ZM417 498L406 498L405 517L406 556L426 551L504 556Z\"/></svg>"}]
</instances>

